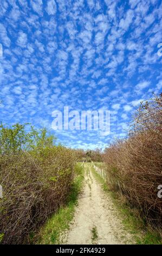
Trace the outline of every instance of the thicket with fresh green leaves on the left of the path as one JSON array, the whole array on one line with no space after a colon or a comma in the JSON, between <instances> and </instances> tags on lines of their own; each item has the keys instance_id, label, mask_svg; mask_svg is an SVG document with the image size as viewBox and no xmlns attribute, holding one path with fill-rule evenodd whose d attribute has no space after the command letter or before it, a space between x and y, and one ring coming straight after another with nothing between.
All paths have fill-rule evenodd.
<instances>
[{"instance_id":1,"label":"thicket with fresh green leaves on the left of the path","mask_svg":"<svg viewBox=\"0 0 162 256\"><path fill-rule=\"evenodd\" d=\"M16 124L0 129L0 241L30 243L37 228L67 198L73 180L73 150L55 137Z\"/></svg>"}]
</instances>

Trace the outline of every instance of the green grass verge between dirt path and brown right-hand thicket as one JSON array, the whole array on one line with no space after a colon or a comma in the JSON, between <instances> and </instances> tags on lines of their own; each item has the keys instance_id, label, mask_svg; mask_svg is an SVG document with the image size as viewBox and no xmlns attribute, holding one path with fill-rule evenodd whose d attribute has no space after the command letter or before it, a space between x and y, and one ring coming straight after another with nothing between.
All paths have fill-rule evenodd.
<instances>
[{"instance_id":1,"label":"green grass verge between dirt path and brown right-hand thicket","mask_svg":"<svg viewBox=\"0 0 162 256\"><path fill-rule=\"evenodd\" d=\"M144 223L140 218L138 211L132 208L124 197L122 198L118 193L110 191L105 180L95 171L93 166L91 166L91 170L95 179L102 185L103 190L111 196L113 203L121 216L122 223L124 224L125 229L133 235L134 242L140 245L162 244L158 231L153 230L152 227Z\"/></svg>"}]
</instances>

